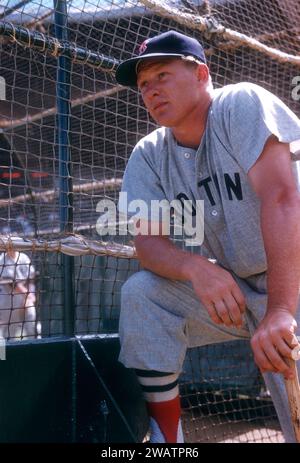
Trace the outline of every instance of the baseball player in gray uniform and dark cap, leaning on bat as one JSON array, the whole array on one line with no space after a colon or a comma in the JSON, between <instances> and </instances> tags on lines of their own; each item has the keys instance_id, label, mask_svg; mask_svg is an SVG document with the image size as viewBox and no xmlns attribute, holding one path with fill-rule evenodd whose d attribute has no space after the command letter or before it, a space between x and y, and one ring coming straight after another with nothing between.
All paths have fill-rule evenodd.
<instances>
[{"instance_id":1,"label":"baseball player in gray uniform and dark cap, leaning on bat","mask_svg":"<svg viewBox=\"0 0 300 463\"><path fill-rule=\"evenodd\" d=\"M300 121L258 85L214 89L200 43L175 31L146 40L116 79L138 87L161 126L134 148L122 187L127 203L148 205L135 237L143 270L122 288L119 359L137 372L151 442L183 442L178 376L187 347L238 338L251 338L294 442L283 376L292 377L285 359L298 344L300 198L289 144L300 139ZM200 248L177 246L150 214L152 200L174 199L204 201ZM119 209L131 213L121 199Z\"/></svg>"}]
</instances>

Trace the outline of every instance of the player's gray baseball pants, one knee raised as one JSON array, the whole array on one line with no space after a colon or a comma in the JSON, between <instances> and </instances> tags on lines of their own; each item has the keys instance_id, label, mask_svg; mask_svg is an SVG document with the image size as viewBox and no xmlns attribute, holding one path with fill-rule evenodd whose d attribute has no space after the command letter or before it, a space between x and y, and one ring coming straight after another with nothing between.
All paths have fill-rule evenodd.
<instances>
[{"instance_id":1,"label":"player's gray baseball pants, one knee raised","mask_svg":"<svg viewBox=\"0 0 300 463\"><path fill-rule=\"evenodd\" d=\"M132 275L122 287L120 362L127 368L175 373L182 370L188 347L250 339L265 312L265 274L247 280L234 278L247 303L242 329L214 324L188 282L169 280L146 270ZM300 326L299 310L297 317ZM295 442L283 377L267 373L264 380L285 440Z\"/></svg>"}]
</instances>

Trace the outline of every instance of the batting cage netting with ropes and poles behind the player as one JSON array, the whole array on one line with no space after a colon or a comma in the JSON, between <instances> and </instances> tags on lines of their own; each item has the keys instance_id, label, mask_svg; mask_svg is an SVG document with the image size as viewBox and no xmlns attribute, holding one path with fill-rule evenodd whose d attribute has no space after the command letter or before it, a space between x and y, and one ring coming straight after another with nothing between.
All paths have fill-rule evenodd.
<instances>
[{"instance_id":1,"label":"batting cage netting with ropes and poles behind the player","mask_svg":"<svg viewBox=\"0 0 300 463\"><path fill-rule=\"evenodd\" d=\"M215 87L251 81L300 115L299 23L298 0L1 0L0 336L118 331L139 265L132 237L99 234L99 202L156 128L118 62L181 31ZM190 349L180 391L187 442L283 441L246 341Z\"/></svg>"}]
</instances>

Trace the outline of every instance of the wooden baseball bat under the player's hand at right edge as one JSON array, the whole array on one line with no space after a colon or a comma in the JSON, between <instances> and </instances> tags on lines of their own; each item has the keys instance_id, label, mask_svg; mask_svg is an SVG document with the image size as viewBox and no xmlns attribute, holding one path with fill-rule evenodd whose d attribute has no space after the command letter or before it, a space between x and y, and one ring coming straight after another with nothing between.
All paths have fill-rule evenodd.
<instances>
[{"instance_id":1,"label":"wooden baseball bat under the player's hand at right edge","mask_svg":"<svg viewBox=\"0 0 300 463\"><path fill-rule=\"evenodd\" d=\"M296 361L300 359L300 347L295 347L291 352L292 358L287 358L289 367L293 370L294 379L285 379L285 388L288 396L292 424L296 441L300 443L300 385Z\"/></svg>"}]
</instances>

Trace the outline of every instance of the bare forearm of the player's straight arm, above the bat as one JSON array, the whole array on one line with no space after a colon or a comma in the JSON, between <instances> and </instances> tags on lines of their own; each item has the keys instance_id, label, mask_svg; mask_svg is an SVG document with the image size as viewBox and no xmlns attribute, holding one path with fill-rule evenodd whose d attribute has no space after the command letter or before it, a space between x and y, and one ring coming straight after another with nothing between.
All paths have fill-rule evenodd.
<instances>
[{"instance_id":1,"label":"bare forearm of the player's straight arm, above the bat","mask_svg":"<svg viewBox=\"0 0 300 463\"><path fill-rule=\"evenodd\" d=\"M284 308L295 314L300 284L299 196L262 204L261 224L268 265L268 310Z\"/></svg>"}]
</instances>

